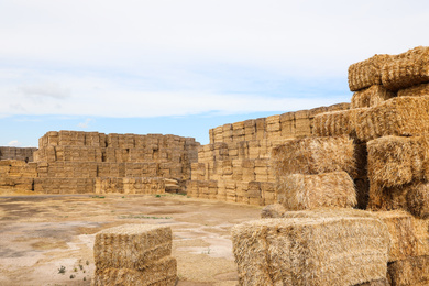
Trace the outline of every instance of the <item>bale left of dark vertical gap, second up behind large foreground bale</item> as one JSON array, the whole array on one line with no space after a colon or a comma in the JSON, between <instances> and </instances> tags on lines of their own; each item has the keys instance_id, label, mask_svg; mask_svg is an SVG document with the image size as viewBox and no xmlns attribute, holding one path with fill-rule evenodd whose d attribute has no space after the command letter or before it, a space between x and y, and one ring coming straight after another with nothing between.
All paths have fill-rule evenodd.
<instances>
[{"instance_id":1,"label":"bale left of dark vertical gap, second up behind large foreground bale","mask_svg":"<svg viewBox=\"0 0 429 286\"><path fill-rule=\"evenodd\" d=\"M276 176L355 170L354 144L348 136L306 138L286 141L272 151Z\"/></svg>"}]
</instances>

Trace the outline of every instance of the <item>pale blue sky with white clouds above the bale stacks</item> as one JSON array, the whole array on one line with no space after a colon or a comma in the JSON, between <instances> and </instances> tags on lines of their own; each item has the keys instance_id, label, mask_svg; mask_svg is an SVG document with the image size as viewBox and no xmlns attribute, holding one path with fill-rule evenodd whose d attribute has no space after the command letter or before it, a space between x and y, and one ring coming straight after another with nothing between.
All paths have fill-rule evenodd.
<instances>
[{"instance_id":1,"label":"pale blue sky with white clouds above the bale stacks","mask_svg":"<svg viewBox=\"0 0 429 286\"><path fill-rule=\"evenodd\" d=\"M0 0L0 145L52 130L208 143L350 101L349 65L429 45L427 1Z\"/></svg>"}]
</instances>

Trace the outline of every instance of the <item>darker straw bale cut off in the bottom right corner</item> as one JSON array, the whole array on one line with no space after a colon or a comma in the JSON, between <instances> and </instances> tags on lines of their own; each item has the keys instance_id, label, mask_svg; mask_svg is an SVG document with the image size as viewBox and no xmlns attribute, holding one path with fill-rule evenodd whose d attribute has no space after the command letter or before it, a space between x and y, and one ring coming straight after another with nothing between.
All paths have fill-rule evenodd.
<instances>
[{"instance_id":1,"label":"darker straw bale cut off in the bottom right corner","mask_svg":"<svg viewBox=\"0 0 429 286\"><path fill-rule=\"evenodd\" d=\"M392 286L429 285L429 256L408 257L388 264L387 277Z\"/></svg>"}]
</instances>

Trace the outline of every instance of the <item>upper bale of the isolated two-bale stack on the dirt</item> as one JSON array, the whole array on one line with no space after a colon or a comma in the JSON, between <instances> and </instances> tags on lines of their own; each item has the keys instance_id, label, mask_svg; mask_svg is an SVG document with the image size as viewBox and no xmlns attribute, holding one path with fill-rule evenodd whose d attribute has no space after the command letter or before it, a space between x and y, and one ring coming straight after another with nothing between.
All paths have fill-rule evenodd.
<instances>
[{"instance_id":1,"label":"upper bale of the isolated two-bale stack on the dirt","mask_svg":"<svg viewBox=\"0 0 429 286\"><path fill-rule=\"evenodd\" d=\"M94 257L98 270L144 270L172 254L172 229L158 224L123 224L97 233Z\"/></svg>"}]
</instances>

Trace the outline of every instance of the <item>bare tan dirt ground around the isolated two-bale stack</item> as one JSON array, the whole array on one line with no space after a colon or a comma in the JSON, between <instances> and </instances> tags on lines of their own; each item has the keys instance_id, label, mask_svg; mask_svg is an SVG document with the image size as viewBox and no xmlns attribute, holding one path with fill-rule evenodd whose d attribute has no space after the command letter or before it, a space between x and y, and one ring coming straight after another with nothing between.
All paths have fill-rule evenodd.
<instances>
[{"instance_id":1,"label":"bare tan dirt ground around the isolated two-bale stack","mask_svg":"<svg viewBox=\"0 0 429 286\"><path fill-rule=\"evenodd\" d=\"M0 190L0 285L8 286L90 285L95 234L123 223L172 227L177 285L237 285L231 227L261 213L169 194L9 195Z\"/></svg>"}]
</instances>

